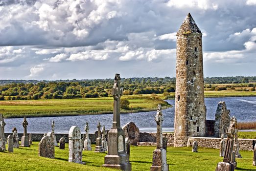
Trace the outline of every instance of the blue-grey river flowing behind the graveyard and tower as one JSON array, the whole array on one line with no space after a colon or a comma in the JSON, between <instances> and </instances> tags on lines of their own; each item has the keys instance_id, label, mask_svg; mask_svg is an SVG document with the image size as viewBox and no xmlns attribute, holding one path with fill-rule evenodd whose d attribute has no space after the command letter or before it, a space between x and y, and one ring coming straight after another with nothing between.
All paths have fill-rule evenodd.
<instances>
[{"instance_id":1,"label":"blue-grey river flowing behind the graveyard and tower","mask_svg":"<svg viewBox=\"0 0 256 171\"><path fill-rule=\"evenodd\" d=\"M174 100L166 100L173 107L163 110L163 131L174 130ZM256 97L222 97L205 98L207 107L207 119L214 120L217 105L225 101L227 108L231 110L231 116L235 116L238 122L256 121ZM141 132L156 132L156 111L128 113L120 115L121 125L134 122ZM85 133L85 123L89 123L90 133L97 130L97 123L105 125L106 129L112 127L113 114L57 116L57 117L33 117L27 118L29 133L45 133L51 131L51 122L55 122L55 133L68 133L71 126L78 126ZM23 118L4 119L5 132L11 132L13 127L23 132Z\"/></svg>"}]
</instances>

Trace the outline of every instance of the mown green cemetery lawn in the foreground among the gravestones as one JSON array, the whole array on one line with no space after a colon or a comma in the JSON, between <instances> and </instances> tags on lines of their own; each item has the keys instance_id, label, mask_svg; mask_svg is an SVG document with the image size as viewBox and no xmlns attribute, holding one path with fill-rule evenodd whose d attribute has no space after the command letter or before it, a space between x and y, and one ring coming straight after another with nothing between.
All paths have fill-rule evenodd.
<instances>
[{"instance_id":1,"label":"mown green cemetery lawn in the foreground among the gravestones","mask_svg":"<svg viewBox=\"0 0 256 171\"><path fill-rule=\"evenodd\" d=\"M93 150L95 145L92 145ZM6 146L7 148L7 146ZM152 165L152 154L155 147L131 146L130 162L132 171L149 171ZM223 160L219 150L199 148L192 153L191 148L167 148L167 163L170 171L215 171L217 163ZM252 166L253 151L240 151L243 158L236 159L236 171L255 171ZM107 153L83 151L83 162L86 165L68 162L69 148L65 150L55 147L55 159L38 156L38 142L33 142L31 148L14 149L13 153L0 152L1 170L26 171L116 171L101 167Z\"/></svg>"}]
</instances>

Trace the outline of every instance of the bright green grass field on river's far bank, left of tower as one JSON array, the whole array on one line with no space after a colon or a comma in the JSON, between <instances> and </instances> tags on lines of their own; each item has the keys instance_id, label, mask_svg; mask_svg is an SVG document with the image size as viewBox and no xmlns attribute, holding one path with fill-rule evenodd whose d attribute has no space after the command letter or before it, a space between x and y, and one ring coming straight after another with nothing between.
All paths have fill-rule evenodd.
<instances>
[{"instance_id":1,"label":"bright green grass field on river's far bank, left of tower","mask_svg":"<svg viewBox=\"0 0 256 171\"><path fill-rule=\"evenodd\" d=\"M156 110L158 104L163 108L171 107L161 99L150 96L123 96L128 99L132 112ZM0 113L4 118L67 116L86 114L105 114L113 112L113 97L87 99L51 99L51 100L17 100L0 101ZM121 113L131 110L121 109Z\"/></svg>"}]
</instances>

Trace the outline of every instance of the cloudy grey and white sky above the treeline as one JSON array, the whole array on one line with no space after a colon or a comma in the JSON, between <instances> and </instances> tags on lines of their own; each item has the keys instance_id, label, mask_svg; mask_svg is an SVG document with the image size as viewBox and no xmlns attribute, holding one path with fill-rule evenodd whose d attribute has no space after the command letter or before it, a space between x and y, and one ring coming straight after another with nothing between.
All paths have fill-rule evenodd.
<instances>
[{"instance_id":1,"label":"cloudy grey and white sky above the treeline","mask_svg":"<svg viewBox=\"0 0 256 171\"><path fill-rule=\"evenodd\" d=\"M175 77L188 12L204 76L256 76L256 0L0 0L0 79Z\"/></svg>"}]
</instances>

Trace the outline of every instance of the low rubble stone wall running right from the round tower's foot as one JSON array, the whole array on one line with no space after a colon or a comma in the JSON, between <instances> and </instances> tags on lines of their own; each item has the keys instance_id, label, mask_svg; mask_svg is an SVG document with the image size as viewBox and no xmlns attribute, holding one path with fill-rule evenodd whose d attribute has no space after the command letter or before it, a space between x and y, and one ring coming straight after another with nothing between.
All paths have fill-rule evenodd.
<instances>
[{"instance_id":1,"label":"low rubble stone wall running right from the round tower's foot","mask_svg":"<svg viewBox=\"0 0 256 171\"><path fill-rule=\"evenodd\" d=\"M240 150L253 150L253 140L256 139L241 139L238 138ZM187 140L187 147L192 146L192 143L197 141L199 147L220 149L221 138L210 138L210 137L190 137ZM227 138L224 138L225 143Z\"/></svg>"}]
</instances>

